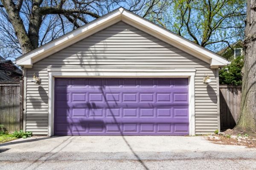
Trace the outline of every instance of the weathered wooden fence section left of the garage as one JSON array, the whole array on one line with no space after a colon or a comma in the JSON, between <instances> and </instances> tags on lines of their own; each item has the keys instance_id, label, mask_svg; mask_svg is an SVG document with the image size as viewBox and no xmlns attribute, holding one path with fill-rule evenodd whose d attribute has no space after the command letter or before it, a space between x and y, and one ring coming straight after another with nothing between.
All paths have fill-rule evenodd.
<instances>
[{"instance_id":1,"label":"weathered wooden fence section left of the garage","mask_svg":"<svg viewBox=\"0 0 256 170\"><path fill-rule=\"evenodd\" d=\"M13 132L23 124L23 81L0 83L0 124Z\"/></svg>"}]
</instances>

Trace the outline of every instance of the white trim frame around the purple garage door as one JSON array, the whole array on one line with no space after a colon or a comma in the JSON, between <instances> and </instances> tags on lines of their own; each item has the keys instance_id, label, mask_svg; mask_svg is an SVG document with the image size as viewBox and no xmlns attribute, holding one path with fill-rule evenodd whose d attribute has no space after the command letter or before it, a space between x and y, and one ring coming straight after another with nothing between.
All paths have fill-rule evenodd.
<instances>
[{"instance_id":1,"label":"white trim frame around the purple garage door","mask_svg":"<svg viewBox=\"0 0 256 170\"><path fill-rule=\"evenodd\" d=\"M47 68L49 78L48 136L54 135L55 77L98 78L189 78L189 135L195 135L195 69L194 68Z\"/></svg>"}]
</instances>

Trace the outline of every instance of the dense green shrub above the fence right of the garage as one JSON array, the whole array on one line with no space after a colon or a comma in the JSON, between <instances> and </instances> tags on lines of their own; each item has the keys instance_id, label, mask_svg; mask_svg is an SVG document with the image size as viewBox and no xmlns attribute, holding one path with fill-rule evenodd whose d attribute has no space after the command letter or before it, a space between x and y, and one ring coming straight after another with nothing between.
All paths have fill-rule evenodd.
<instances>
[{"instance_id":1,"label":"dense green shrub above the fence right of the garage","mask_svg":"<svg viewBox=\"0 0 256 170\"><path fill-rule=\"evenodd\" d=\"M219 81L221 85L242 85L241 70L243 68L243 57L233 59L230 65L219 71Z\"/></svg>"}]
</instances>

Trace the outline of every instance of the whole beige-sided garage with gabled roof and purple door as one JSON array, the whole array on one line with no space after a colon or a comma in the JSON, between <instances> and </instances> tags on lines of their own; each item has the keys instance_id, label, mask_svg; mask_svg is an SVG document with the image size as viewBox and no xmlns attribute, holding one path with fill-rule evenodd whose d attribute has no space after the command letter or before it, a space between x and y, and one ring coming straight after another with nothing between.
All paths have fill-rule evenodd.
<instances>
[{"instance_id":1,"label":"whole beige-sided garage with gabled roof and purple door","mask_svg":"<svg viewBox=\"0 0 256 170\"><path fill-rule=\"evenodd\" d=\"M118 8L17 58L34 135L203 135L220 130L227 60ZM207 80L207 81L206 81Z\"/></svg>"}]
</instances>

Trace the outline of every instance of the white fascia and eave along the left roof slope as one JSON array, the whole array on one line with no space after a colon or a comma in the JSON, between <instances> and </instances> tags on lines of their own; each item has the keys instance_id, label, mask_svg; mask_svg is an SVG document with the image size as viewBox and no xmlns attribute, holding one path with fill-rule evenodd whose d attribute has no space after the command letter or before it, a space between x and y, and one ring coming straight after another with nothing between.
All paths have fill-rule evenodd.
<instances>
[{"instance_id":1,"label":"white fascia and eave along the left roof slope","mask_svg":"<svg viewBox=\"0 0 256 170\"><path fill-rule=\"evenodd\" d=\"M32 65L28 60L32 59L32 63L35 63L44 57L47 57L55 52L60 51L63 48L66 48L72 45L79 40L82 40L92 34L95 34L102 29L113 25L121 20L121 13L119 10L113 11L110 14L107 14L98 20L88 23L87 25L78 28L52 42L49 42L42 47L39 47L27 54L24 54L22 57L16 59L17 65ZM31 61L30 61L31 62Z\"/></svg>"}]
</instances>

